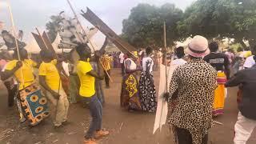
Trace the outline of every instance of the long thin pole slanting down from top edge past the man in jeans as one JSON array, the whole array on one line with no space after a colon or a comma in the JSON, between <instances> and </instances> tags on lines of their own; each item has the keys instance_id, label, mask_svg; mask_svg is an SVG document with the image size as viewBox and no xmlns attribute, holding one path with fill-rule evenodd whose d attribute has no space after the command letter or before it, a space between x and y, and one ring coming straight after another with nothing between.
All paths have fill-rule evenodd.
<instances>
[{"instance_id":1,"label":"long thin pole slanting down from top edge past the man in jeans","mask_svg":"<svg viewBox=\"0 0 256 144\"><path fill-rule=\"evenodd\" d=\"M90 38L88 38L88 36L87 36L87 34L86 34L86 30L84 30L84 28L82 27L81 22L78 20L78 15L75 13L73 6L71 5L71 3L70 3L69 0L66 0L66 1L69 3L70 9L72 10L72 12L73 12L73 14L74 14L74 18L77 19L78 25L80 26L80 28L81 28L83 34L86 35L86 38L88 39L88 42L90 43L90 46L92 46L93 50L95 51L94 45L93 45L93 43L90 41ZM106 75L110 78L110 82L113 82L112 78L110 77L110 74L107 72L106 68L103 66L102 61L101 61L101 60L99 60L99 61L100 61L101 65L102 65L103 69L106 71Z\"/></svg>"}]
</instances>

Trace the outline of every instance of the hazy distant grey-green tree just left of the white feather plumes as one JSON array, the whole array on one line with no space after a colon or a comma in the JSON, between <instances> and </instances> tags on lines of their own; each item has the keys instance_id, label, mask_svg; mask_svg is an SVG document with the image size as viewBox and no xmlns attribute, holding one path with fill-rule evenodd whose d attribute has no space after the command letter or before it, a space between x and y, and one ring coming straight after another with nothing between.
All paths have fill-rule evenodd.
<instances>
[{"instance_id":1,"label":"hazy distant grey-green tree just left of the white feather plumes","mask_svg":"<svg viewBox=\"0 0 256 144\"><path fill-rule=\"evenodd\" d=\"M58 30L60 29L60 25L59 22L61 22L61 18L58 15L52 15L50 17L50 21L46 23L46 30L47 30L47 34L50 38L50 42L54 42L57 34L58 34Z\"/></svg>"}]
</instances>

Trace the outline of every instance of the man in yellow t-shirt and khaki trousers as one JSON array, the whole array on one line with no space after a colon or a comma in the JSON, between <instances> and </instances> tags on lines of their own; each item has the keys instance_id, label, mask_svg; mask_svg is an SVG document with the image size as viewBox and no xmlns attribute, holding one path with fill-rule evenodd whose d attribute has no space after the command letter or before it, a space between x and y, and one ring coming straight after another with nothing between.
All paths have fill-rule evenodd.
<instances>
[{"instance_id":1,"label":"man in yellow t-shirt and khaki trousers","mask_svg":"<svg viewBox=\"0 0 256 144\"><path fill-rule=\"evenodd\" d=\"M42 64L39 67L39 82L46 90L46 97L56 106L55 128L65 125L69 109L69 101L62 89L62 81L57 70L57 60L50 50L41 50Z\"/></svg>"}]
</instances>

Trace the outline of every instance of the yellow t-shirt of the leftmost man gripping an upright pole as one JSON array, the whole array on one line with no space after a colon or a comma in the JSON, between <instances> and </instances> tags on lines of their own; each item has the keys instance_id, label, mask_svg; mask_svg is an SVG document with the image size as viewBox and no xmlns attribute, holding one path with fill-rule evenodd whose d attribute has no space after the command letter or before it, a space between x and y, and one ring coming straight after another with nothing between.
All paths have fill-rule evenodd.
<instances>
[{"instance_id":1,"label":"yellow t-shirt of the leftmost man gripping an upright pole","mask_svg":"<svg viewBox=\"0 0 256 144\"><path fill-rule=\"evenodd\" d=\"M13 70L16 66L16 63L18 60L13 60L7 63L6 70ZM17 78L19 82L19 90L22 90L26 88L26 86L30 86L32 83L34 83L34 74L33 74L33 67L37 66L37 63L30 60L25 59L22 61L22 68L19 68L15 73L15 77Z\"/></svg>"}]
</instances>

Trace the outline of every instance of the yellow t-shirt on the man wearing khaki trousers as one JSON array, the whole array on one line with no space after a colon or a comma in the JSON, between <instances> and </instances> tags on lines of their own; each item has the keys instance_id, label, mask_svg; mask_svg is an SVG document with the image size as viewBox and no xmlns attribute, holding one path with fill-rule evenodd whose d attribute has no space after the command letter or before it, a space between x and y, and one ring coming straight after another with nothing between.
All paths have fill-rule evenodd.
<instances>
[{"instance_id":1,"label":"yellow t-shirt on the man wearing khaki trousers","mask_svg":"<svg viewBox=\"0 0 256 144\"><path fill-rule=\"evenodd\" d=\"M46 84L50 87L51 90L58 90L59 86L62 84L56 64L56 59L48 63L42 62L38 72L38 75L46 77Z\"/></svg>"}]
</instances>

